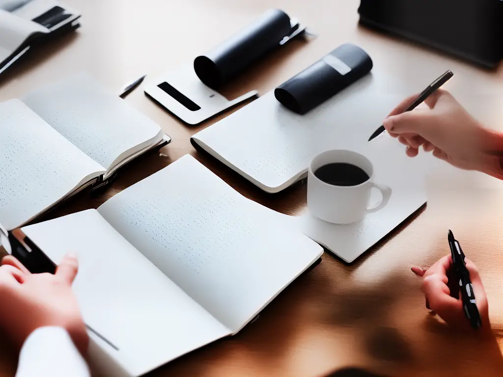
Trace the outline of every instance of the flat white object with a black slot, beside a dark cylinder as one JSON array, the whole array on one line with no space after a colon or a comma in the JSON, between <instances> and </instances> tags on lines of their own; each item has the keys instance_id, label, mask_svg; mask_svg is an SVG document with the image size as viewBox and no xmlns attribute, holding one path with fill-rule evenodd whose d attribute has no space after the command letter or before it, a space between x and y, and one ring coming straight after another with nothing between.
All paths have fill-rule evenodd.
<instances>
[{"instance_id":1,"label":"flat white object with a black slot, beside a dark cylinder","mask_svg":"<svg viewBox=\"0 0 503 377\"><path fill-rule=\"evenodd\" d=\"M174 97L159 88L158 85L163 82L169 83L200 109L196 111L189 110ZM191 125L199 124L258 95L258 91L254 90L234 100L227 100L218 91L203 84L194 71L192 61L150 81L145 86L145 93L182 121Z\"/></svg>"}]
</instances>

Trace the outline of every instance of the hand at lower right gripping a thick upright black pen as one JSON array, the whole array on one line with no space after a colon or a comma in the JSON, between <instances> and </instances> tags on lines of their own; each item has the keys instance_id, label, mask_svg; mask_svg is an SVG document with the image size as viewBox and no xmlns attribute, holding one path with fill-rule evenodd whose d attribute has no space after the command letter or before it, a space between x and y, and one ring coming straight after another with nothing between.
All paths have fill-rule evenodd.
<instances>
[{"instance_id":1,"label":"hand at lower right gripping a thick upright black pen","mask_svg":"<svg viewBox=\"0 0 503 377\"><path fill-rule=\"evenodd\" d=\"M465 262L466 268L470 272L473 293L482 320L481 330L490 330L487 295L480 274L475 264L468 258L465 258ZM452 281L455 279L450 274L452 266L452 257L447 255L428 269L414 266L411 270L422 277L421 289L425 294L428 309L433 310L440 318L455 328L471 329L470 323L465 317L459 284L457 281ZM451 281L449 277L451 277Z\"/></svg>"}]
</instances>

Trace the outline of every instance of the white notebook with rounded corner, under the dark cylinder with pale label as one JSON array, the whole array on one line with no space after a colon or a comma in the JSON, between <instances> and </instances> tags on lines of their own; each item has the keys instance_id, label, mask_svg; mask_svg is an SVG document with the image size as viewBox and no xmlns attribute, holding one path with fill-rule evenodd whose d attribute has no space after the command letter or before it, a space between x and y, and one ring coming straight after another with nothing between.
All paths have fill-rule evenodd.
<instances>
[{"instance_id":1,"label":"white notebook with rounded corner, under the dark cylinder with pale label","mask_svg":"<svg viewBox=\"0 0 503 377\"><path fill-rule=\"evenodd\" d=\"M374 72L297 115L271 91L194 139L262 189L278 192L304 174L316 154L366 143L408 93L397 80Z\"/></svg>"}]
</instances>

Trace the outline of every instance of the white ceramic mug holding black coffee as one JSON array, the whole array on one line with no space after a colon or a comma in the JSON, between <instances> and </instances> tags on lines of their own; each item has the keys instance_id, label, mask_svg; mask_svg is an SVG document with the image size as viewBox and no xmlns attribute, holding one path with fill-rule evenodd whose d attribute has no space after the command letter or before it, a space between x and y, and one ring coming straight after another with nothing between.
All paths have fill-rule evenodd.
<instances>
[{"instance_id":1,"label":"white ceramic mug holding black coffee","mask_svg":"<svg viewBox=\"0 0 503 377\"><path fill-rule=\"evenodd\" d=\"M330 163L349 163L363 169L369 179L355 186L337 186L316 177L314 172ZM382 210L391 197L388 186L373 182L374 166L364 155L350 150L329 150L314 157L307 176L307 207L318 219L333 224L352 224L365 215ZM369 208L371 190L381 192L382 200Z\"/></svg>"}]
</instances>

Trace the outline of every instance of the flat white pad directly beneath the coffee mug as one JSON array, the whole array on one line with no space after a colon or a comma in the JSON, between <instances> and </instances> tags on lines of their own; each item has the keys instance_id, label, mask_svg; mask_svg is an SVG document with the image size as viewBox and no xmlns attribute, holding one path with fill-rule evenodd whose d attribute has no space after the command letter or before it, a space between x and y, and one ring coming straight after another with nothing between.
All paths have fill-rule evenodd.
<instances>
[{"instance_id":1,"label":"flat white pad directly beneath the coffee mug","mask_svg":"<svg viewBox=\"0 0 503 377\"><path fill-rule=\"evenodd\" d=\"M374 164L374 181L391 189L388 204L381 211L368 214L362 221L348 225L330 224L312 216L288 217L289 226L298 229L347 263L354 262L427 202L426 177L435 164L443 163L432 155L405 155L405 147L388 134L365 147L350 148L366 155ZM381 200L373 190L369 205Z\"/></svg>"}]
</instances>

